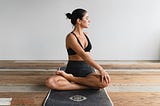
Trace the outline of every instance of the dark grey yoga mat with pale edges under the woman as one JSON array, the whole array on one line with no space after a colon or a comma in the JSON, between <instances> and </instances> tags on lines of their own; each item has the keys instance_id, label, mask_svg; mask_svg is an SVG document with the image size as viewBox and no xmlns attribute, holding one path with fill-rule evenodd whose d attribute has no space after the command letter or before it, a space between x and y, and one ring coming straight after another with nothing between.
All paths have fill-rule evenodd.
<instances>
[{"instance_id":1,"label":"dark grey yoga mat with pale edges under the woman","mask_svg":"<svg viewBox=\"0 0 160 106\"><path fill-rule=\"evenodd\" d=\"M43 106L113 106L105 89L50 90Z\"/></svg>"}]
</instances>

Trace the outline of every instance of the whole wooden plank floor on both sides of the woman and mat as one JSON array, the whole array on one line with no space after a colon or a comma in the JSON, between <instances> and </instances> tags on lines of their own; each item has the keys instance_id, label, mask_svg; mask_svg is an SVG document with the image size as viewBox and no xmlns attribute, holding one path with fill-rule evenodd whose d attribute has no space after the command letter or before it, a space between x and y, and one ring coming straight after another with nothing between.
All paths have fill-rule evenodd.
<instances>
[{"instance_id":1,"label":"whole wooden plank floor on both sides of the woman and mat","mask_svg":"<svg viewBox=\"0 0 160 106\"><path fill-rule=\"evenodd\" d=\"M114 106L160 106L159 61L97 61L109 72ZM44 81L66 61L0 61L0 98L12 106L42 106Z\"/></svg>"}]
</instances>

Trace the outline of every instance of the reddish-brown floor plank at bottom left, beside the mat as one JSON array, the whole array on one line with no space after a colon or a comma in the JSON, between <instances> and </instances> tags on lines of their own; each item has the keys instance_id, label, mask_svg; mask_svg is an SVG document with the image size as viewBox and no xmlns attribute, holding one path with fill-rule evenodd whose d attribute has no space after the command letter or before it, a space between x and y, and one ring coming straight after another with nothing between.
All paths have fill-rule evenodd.
<instances>
[{"instance_id":1,"label":"reddish-brown floor plank at bottom left, beside the mat","mask_svg":"<svg viewBox=\"0 0 160 106\"><path fill-rule=\"evenodd\" d=\"M42 106L48 91L0 92L0 98L12 98L11 106Z\"/></svg>"}]
</instances>

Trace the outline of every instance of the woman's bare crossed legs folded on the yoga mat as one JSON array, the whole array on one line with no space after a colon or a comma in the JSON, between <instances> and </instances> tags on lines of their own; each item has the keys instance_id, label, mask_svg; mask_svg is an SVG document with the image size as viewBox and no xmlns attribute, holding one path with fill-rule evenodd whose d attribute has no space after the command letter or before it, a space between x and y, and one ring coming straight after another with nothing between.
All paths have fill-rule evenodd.
<instances>
[{"instance_id":1,"label":"woman's bare crossed legs folded on the yoga mat","mask_svg":"<svg viewBox=\"0 0 160 106\"><path fill-rule=\"evenodd\" d=\"M56 75L46 80L46 85L55 90L101 89L108 86L108 82L102 83L101 76L96 73L86 77L75 77L64 71L57 71Z\"/></svg>"}]
</instances>

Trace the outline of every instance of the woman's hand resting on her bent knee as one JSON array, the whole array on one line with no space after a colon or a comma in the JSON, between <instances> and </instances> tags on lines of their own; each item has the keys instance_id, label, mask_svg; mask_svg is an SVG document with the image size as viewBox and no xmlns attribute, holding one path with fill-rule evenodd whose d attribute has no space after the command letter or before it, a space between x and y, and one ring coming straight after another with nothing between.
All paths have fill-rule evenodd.
<instances>
[{"instance_id":1,"label":"woman's hand resting on her bent knee","mask_svg":"<svg viewBox=\"0 0 160 106\"><path fill-rule=\"evenodd\" d=\"M110 78L109 74L104 69L100 71L100 74L101 74L102 83L104 81L106 81L108 84L111 82L111 78Z\"/></svg>"}]
</instances>

